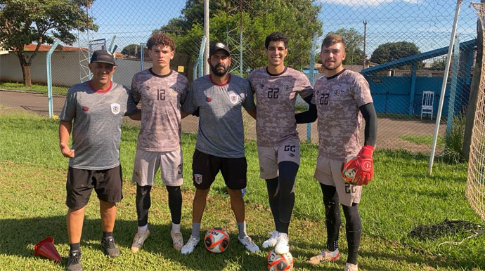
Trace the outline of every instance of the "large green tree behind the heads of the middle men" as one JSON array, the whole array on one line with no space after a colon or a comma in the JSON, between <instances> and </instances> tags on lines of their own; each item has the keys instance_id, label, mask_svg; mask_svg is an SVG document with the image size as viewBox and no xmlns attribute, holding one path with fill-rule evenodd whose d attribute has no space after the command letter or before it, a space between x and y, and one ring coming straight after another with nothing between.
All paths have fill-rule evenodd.
<instances>
[{"instance_id":1,"label":"large green tree behind the heads of the middle men","mask_svg":"<svg viewBox=\"0 0 485 271\"><path fill-rule=\"evenodd\" d=\"M264 39L275 31L284 32L289 38L286 64L300 69L309 63L311 38L321 34L322 22L318 19L321 6L312 0L247 0L242 13L233 1L209 1L210 40L224 41L233 47L231 34L239 33L242 15L244 67L250 70L266 65ZM187 0L179 18L172 18L167 25L155 31L164 31L176 41L177 51L197 58L198 45L203 36L203 1ZM234 31L234 29L237 29ZM235 49L235 48L233 48Z\"/></svg>"}]
</instances>

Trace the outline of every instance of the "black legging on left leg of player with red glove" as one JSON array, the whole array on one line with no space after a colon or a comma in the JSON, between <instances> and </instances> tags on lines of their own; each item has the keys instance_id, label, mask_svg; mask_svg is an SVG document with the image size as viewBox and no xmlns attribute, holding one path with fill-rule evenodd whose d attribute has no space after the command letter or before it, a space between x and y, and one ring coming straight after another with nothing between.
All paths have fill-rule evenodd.
<instances>
[{"instance_id":1,"label":"black legging on left leg of player with red glove","mask_svg":"<svg viewBox=\"0 0 485 271\"><path fill-rule=\"evenodd\" d=\"M335 186L320 184L325 205L325 224L327 225L327 249L339 248L340 206Z\"/></svg>"}]
</instances>

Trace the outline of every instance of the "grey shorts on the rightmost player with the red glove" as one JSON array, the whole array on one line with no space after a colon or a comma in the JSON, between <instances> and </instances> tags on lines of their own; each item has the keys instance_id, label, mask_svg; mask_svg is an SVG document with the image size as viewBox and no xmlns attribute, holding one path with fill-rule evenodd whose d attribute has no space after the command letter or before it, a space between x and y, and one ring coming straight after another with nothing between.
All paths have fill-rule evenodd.
<instances>
[{"instance_id":1,"label":"grey shorts on the rightmost player with the red glove","mask_svg":"<svg viewBox=\"0 0 485 271\"><path fill-rule=\"evenodd\" d=\"M353 203L359 203L361 201L362 186L351 185L344 180L341 172L342 162L328 159L318 154L315 175L313 177L324 185L335 186L339 194L340 204L352 206Z\"/></svg>"}]
</instances>

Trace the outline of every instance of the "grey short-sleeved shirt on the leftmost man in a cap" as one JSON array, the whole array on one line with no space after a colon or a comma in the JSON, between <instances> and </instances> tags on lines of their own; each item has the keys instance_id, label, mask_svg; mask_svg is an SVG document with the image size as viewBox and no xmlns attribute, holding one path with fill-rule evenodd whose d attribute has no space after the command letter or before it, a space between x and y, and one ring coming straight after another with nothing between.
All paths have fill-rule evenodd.
<instances>
[{"instance_id":1,"label":"grey short-sleeved shirt on the leftmost man in a cap","mask_svg":"<svg viewBox=\"0 0 485 271\"><path fill-rule=\"evenodd\" d=\"M129 89L111 83L96 91L89 81L69 88L59 119L72 121L72 168L103 170L119 165L122 119L138 111Z\"/></svg>"}]
</instances>

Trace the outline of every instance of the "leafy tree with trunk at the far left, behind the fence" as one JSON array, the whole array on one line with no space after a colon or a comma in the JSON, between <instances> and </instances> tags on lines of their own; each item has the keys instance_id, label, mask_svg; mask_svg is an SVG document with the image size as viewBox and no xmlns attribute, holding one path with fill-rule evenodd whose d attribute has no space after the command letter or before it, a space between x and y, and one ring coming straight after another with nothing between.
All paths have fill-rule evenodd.
<instances>
[{"instance_id":1,"label":"leafy tree with trunk at the far left, behind the fence","mask_svg":"<svg viewBox=\"0 0 485 271\"><path fill-rule=\"evenodd\" d=\"M83 11L94 0L0 0L0 44L15 52L20 65L24 84L32 86L30 65L41 44L53 44L54 38L64 44L76 41L70 30L97 30L93 18ZM30 58L25 55L24 46L37 43Z\"/></svg>"}]
</instances>

